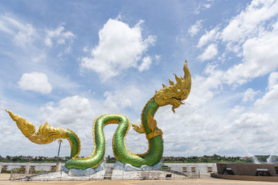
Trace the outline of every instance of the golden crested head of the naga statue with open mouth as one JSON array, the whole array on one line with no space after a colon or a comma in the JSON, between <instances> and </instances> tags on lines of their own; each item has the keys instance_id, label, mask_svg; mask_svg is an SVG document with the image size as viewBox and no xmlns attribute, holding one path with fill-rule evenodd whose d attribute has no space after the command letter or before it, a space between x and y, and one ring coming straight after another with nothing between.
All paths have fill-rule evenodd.
<instances>
[{"instance_id":1,"label":"golden crested head of the naga statue with open mouth","mask_svg":"<svg viewBox=\"0 0 278 185\"><path fill-rule=\"evenodd\" d=\"M191 89L191 75L187 66L187 61L183 66L184 76L179 78L174 74L177 83L174 84L172 80L169 79L170 85L163 85L163 88L156 91L154 95L154 100L159 106L172 105L172 111L179 107L179 105L184 104L182 100L188 97Z\"/></svg>"}]
</instances>

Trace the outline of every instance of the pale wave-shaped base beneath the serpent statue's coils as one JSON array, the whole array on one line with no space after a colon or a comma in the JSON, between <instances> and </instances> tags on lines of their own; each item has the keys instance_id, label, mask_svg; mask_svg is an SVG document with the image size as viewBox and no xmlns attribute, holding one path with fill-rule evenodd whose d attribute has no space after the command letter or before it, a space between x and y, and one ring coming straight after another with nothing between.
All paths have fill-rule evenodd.
<instances>
[{"instance_id":1,"label":"pale wave-shaped base beneath the serpent statue's coils","mask_svg":"<svg viewBox=\"0 0 278 185\"><path fill-rule=\"evenodd\" d=\"M140 167L132 166L131 164L123 164L120 161L116 161L113 166L112 174L104 168L106 160L101 161L101 164L97 168L87 168L85 170L79 169L67 169L63 166L60 172L44 173L40 175L32 175L20 178L22 180L103 180L103 179L167 179L167 175L170 177L178 177L179 179L186 178L186 175L174 174L174 171L161 170L163 161L160 161L154 166L142 165ZM172 175L171 175L172 174Z\"/></svg>"}]
</instances>

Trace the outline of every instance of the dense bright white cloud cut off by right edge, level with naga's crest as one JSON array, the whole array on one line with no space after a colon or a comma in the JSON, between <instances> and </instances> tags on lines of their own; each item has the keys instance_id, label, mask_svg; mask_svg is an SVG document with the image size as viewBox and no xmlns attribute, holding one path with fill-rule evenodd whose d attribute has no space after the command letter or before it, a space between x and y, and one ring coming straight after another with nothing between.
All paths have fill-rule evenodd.
<instances>
[{"instance_id":1,"label":"dense bright white cloud cut off by right edge, level with naga's crest","mask_svg":"<svg viewBox=\"0 0 278 185\"><path fill-rule=\"evenodd\" d=\"M263 76L278 68L278 21L270 31L263 30L257 37L247 39L243 44L243 62L226 71L227 83L243 84L250 78Z\"/></svg>"}]
</instances>

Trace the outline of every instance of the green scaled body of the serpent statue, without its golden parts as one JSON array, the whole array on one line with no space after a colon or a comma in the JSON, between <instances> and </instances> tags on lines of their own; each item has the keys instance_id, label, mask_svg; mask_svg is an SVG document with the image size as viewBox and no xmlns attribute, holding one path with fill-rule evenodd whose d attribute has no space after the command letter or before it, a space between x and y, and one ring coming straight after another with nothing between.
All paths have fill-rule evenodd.
<instances>
[{"instance_id":1,"label":"green scaled body of the serpent statue, without its golden parts","mask_svg":"<svg viewBox=\"0 0 278 185\"><path fill-rule=\"evenodd\" d=\"M145 127L147 134L151 133L152 130L149 129L147 124L148 112L152 116L156 113L158 109L158 104L152 98L149 100L149 103L145 106L142 112L142 123ZM105 154L105 137L104 137L104 126L112 123L118 123L117 130L113 136L113 152L115 158L122 163L129 163L133 166L154 166L157 164L163 155L163 139L161 135L155 136L152 139L149 139L149 150L143 155L136 155L132 152L129 152L125 146L125 136L129 131L130 122L129 118L122 114L105 114L101 115L95 119L93 125L93 135L95 141L95 147L92 152L92 155L85 158L76 158L73 157L77 154L79 143L76 142L74 134L68 131L67 135L72 136L72 152L71 156L73 157L65 163L66 168L77 168L77 169L86 169L86 168L96 168L99 163L104 159Z\"/></svg>"}]
</instances>

